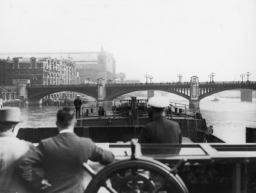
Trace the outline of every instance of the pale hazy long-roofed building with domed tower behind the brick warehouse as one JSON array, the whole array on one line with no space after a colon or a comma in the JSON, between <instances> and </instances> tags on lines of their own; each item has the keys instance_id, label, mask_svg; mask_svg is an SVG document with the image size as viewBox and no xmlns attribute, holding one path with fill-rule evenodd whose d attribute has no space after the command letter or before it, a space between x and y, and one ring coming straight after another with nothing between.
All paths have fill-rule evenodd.
<instances>
[{"instance_id":1,"label":"pale hazy long-roofed building with domed tower behind the brick warehouse","mask_svg":"<svg viewBox=\"0 0 256 193\"><path fill-rule=\"evenodd\" d=\"M44 58L45 56L56 57L56 58L73 58L74 64L74 74L76 76L76 72L79 72L79 76L81 78L80 82L84 83L87 81L87 76L90 77L89 81L96 82L96 78L103 78L105 81L113 80L113 75L116 75L116 60L113 57L113 54L105 52L103 46L100 51L96 52L16 52L16 53L0 53L0 58L4 58L6 60L7 57L11 58L30 58L31 56L35 56L38 58ZM51 58L54 60L55 58ZM38 59L39 60L39 59ZM55 59L56 60L56 59ZM43 60L44 61L44 60ZM27 61L30 62L30 61ZM35 63L41 62L35 61ZM56 60L56 65L58 65L58 60ZM31 67L32 68L32 67ZM48 67L47 67L48 68ZM1 67L0 67L1 69ZM40 69L40 68L38 68ZM64 69L61 69L64 73ZM2 72L2 71L1 71ZM0 73L1 73L0 72ZM35 72L37 73L37 72ZM58 73L55 73L58 76ZM63 75L63 74L62 74ZM67 82L67 76L63 77L61 73L59 74L61 83ZM69 75L69 74L66 74ZM54 76L54 74L53 74ZM66 78L66 79L64 79ZM50 79L51 74L50 74ZM53 78L54 79L54 78ZM58 79L58 77L57 77ZM1 77L0 77L0 80ZM6 80L6 77L5 77ZM50 80L50 81L51 81ZM71 80L73 81L73 80ZM32 81L33 82L33 81ZM47 82L48 84L48 82ZM66 84L66 83L62 83ZM74 83L75 84L75 83Z\"/></svg>"}]
</instances>

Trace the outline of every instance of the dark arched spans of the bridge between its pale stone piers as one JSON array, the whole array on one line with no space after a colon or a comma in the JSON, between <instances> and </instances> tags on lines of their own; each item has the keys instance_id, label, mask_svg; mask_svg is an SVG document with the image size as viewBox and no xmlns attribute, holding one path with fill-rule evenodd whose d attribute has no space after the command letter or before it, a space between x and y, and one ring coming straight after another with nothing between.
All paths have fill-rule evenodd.
<instances>
[{"instance_id":1,"label":"dark arched spans of the bridge between its pale stone piers","mask_svg":"<svg viewBox=\"0 0 256 193\"><path fill-rule=\"evenodd\" d=\"M74 85L33 85L26 86L28 99L40 99L55 92L73 91L84 93L98 99L99 84ZM246 82L199 82L199 100L209 95L231 89L256 90L256 81ZM160 90L182 96L189 100L190 83L135 83L135 84L105 84L106 100L113 100L121 95L141 90Z\"/></svg>"}]
</instances>

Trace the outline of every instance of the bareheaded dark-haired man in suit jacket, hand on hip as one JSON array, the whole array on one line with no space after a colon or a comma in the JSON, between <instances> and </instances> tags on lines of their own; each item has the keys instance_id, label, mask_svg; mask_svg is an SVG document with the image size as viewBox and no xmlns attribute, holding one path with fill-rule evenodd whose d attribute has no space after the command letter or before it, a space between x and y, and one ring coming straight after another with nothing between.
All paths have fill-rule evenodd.
<instances>
[{"instance_id":1,"label":"bareheaded dark-haired man in suit jacket, hand on hip","mask_svg":"<svg viewBox=\"0 0 256 193\"><path fill-rule=\"evenodd\" d=\"M99 161L109 164L115 161L110 151L97 147L90 138L73 133L76 119L71 108L64 107L57 113L59 134L41 140L35 150L20 159L20 173L32 187L44 193L82 193L84 191L84 162ZM33 166L43 167L44 178L36 175Z\"/></svg>"}]
</instances>

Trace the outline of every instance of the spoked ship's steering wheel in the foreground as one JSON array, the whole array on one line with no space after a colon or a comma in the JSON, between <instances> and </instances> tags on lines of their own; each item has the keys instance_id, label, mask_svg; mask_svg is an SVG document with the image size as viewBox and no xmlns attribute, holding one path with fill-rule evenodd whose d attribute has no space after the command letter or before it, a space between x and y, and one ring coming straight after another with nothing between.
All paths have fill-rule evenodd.
<instances>
[{"instance_id":1,"label":"spoked ship's steering wheel in the foreground","mask_svg":"<svg viewBox=\"0 0 256 193\"><path fill-rule=\"evenodd\" d=\"M151 158L116 161L95 173L88 164L83 168L93 179L84 193L188 193L177 175L177 168L185 161L169 168Z\"/></svg>"}]
</instances>

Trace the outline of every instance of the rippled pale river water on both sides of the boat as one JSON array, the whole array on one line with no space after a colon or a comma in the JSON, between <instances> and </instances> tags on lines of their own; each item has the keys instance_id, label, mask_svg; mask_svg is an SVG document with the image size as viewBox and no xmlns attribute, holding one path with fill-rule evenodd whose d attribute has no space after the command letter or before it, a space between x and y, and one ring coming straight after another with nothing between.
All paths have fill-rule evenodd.
<instances>
[{"instance_id":1,"label":"rippled pale river water on both sides of the boat","mask_svg":"<svg viewBox=\"0 0 256 193\"><path fill-rule=\"evenodd\" d=\"M171 102L189 104L177 95L167 96ZM213 126L213 134L230 144L245 143L245 128L256 128L256 98L252 102L241 102L240 98L209 96L200 101L200 112L207 126ZM141 97L143 98L143 97ZM140 97L137 97L140 99ZM56 114L61 107L24 107L21 109L20 127L56 127Z\"/></svg>"}]
</instances>

